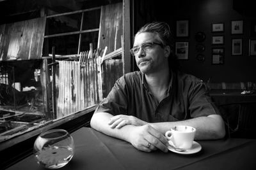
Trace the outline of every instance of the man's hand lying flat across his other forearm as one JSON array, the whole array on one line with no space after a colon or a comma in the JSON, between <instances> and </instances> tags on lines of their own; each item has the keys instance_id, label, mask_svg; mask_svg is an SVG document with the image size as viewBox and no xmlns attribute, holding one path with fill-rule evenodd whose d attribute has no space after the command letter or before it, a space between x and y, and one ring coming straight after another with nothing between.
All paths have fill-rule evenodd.
<instances>
[{"instance_id":1,"label":"man's hand lying flat across his other forearm","mask_svg":"<svg viewBox=\"0 0 256 170\"><path fill-rule=\"evenodd\" d=\"M143 120L140 120L140 118L136 118L133 116L127 116L127 115L116 115L115 117L110 118L110 121L108 122L111 128L117 128L120 129L124 125L146 125L147 122L144 122Z\"/></svg>"}]
</instances>

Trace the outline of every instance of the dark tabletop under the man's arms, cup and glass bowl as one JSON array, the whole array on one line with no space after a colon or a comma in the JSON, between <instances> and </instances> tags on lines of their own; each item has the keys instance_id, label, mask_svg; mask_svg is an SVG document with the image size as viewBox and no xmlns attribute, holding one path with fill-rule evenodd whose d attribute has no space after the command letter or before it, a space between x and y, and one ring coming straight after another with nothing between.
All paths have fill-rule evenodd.
<instances>
[{"instance_id":1,"label":"dark tabletop under the man's arms, cup and glass bowl","mask_svg":"<svg viewBox=\"0 0 256 170\"><path fill-rule=\"evenodd\" d=\"M151 153L136 150L130 143L111 138L91 128L72 133L76 150L61 169L255 169L256 140L228 138L198 141L202 150L193 155ZM33 157L17 162L11 169L43 169Z\"/></svg>"}]
</instances>

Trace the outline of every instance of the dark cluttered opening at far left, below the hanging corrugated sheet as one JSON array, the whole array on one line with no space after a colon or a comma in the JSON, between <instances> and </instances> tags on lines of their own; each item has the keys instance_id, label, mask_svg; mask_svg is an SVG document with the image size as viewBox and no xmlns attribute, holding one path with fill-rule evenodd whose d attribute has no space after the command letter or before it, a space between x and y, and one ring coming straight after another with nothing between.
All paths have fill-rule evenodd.
<instances>
[{"instance_id":1,"label":"dark cluttered opening at far left, below the hanging corrugated sheet","mask_svg":"<svg viewBox=\"0 0 256 170\"><path fill-rule=\"evenodd\" d=\"M1 62L0 142L44 124L42 60Z\"/></svg>"}]
</instances>

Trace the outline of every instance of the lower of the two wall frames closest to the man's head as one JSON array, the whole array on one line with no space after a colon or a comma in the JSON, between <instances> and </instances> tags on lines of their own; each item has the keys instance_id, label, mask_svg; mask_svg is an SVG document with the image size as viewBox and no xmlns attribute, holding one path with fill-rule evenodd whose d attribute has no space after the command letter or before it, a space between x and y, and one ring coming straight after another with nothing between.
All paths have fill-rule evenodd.
<instances>
[{"instance_id":1,"label":"lower of the two wall frames closest to the man's head","mask_svg":"<svg viewBox=\"0 0 256 170\"><path fill-rule=\"evenodd\" d=\"M189 52L188 41L175 43L175 54L177 55L177 59L188 60L188 52Z\"/></svg>"}]
</instances>

